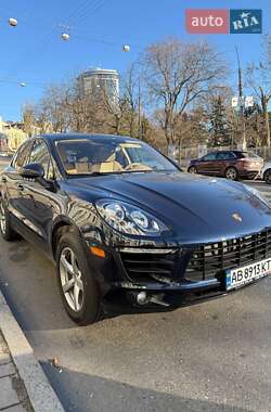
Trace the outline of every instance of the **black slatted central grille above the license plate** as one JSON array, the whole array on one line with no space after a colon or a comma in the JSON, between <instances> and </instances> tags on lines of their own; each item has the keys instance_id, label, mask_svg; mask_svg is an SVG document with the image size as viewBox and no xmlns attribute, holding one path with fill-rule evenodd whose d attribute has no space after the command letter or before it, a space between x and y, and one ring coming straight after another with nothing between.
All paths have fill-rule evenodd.
<instances>
[{"instance_id":1,"label":"black slatted central grille above the license plate","mask_svg":"<svg viewBox=\"0 0 271 412\"><path fill-rule=\"evenodd\" d=\"M205 244L193 252L185 278L193 281L223 275L234 269L271 257L271 229L230 241Z\"/></svg>"}]
</instances>

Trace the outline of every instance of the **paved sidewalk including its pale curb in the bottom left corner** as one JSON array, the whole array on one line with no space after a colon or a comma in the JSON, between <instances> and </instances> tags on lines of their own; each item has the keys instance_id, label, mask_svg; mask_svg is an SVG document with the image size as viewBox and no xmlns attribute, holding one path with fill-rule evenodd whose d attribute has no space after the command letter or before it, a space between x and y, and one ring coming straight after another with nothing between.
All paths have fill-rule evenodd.
<instances>
[{"instance_id":1,"label":"paved sidewalk including its pale curb in the bottom left corner","mask_svg":"<svg viewBox=\"0 0 271 412\"><path fill-rule=\"evenodd\" d=\"M1 291L0 411L64 412Z\"/></svg>"}]
</instances>

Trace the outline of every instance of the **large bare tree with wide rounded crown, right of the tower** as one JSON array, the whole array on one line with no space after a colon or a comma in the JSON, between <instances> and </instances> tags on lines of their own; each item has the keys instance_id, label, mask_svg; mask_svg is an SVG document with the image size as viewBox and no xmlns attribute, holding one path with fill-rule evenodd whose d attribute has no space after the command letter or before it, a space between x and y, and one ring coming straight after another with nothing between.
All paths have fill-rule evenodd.
<instances>
[{"instance_id":1,"label":"large bare tree with wide rounded crown, right of the tower","mask_svg":"<svg viewBox=\"0 0 271 412\"><path fill-rule=\"evenodd\" d=\"M150 46L142 65L149 93L163 105L163 129L167 144L175 140L175 116L225 76L225 64L208 43L183 43L168 39Z\"/></svg>"}]
</instances>

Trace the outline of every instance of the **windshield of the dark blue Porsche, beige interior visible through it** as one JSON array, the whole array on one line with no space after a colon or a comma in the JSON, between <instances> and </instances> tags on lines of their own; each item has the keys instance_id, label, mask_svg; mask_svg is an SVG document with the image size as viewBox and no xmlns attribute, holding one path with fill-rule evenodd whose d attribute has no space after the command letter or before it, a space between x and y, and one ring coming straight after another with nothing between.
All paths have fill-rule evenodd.
<instances>
[{"instance_id":1,"label":"windshield of the dark blue Porsche, beige interior visible through it","mask_svg":"<svg viewBox=\"0 0 271 412\"><path fill-rule=\"evenodd\" d=\"M67 175L178 170L143 142L76 139L60 140L55 145Z\"/></svg>"}]
</instances>

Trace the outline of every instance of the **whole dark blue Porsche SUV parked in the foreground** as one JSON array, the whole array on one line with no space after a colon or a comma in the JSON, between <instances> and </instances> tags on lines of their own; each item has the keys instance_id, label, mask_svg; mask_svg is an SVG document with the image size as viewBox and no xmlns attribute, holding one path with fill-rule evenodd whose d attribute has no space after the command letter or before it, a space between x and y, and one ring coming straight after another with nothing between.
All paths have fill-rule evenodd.
<instances>
[{"instance_id":1,"label":"whole dark blue Porsche SUV parked in the foreground","mask_svg":"<svg viewBox=\"0 0 271 412\"><path fill-rule=\"evenodd\" d=\"M183 173L137 139L28 139L0 181L3 239L18 233L55 261L79 324L112 305L173 309L271 271L271 209L257 191Z\"/></svg>"}]
</instances>

